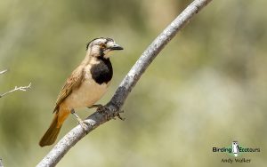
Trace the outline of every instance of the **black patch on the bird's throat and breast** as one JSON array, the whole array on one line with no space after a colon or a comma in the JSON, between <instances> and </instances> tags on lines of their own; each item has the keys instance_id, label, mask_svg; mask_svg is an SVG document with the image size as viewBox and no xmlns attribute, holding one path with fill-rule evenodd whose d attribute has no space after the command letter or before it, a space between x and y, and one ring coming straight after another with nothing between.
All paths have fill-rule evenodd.
<instances>
[{"instance_id":1,"label":"black patch on the bird's throat and breast","mask_svg":"<svg viewBox=\"0 0 267 167\"><path fill-rule=\"evenodd\" d=\"M102 56L98 59L99 64L93 65L91 68L91 75L96 83L109 83L113 76L113 69L109 59L105 59Z\"/></svg>"}]
</instances>

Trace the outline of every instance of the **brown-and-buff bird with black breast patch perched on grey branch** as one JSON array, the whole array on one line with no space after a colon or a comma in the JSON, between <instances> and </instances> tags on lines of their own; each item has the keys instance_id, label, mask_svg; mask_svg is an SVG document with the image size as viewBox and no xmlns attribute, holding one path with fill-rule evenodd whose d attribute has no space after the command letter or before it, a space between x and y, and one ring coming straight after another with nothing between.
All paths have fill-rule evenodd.
<instances>
[{"instance_id":1,"label":"brown-and-buff bird with black breast patch perched on grey branch","mask_svg":"<svg viewBox=\"0 0 267 167\"><path fill-rule=\"evenodd\" d=\"M53 121L40 139L40 147L53 145L69 114L75 115L78 123L85 129L85 123L78 117L75 109L101 106L95 103L107 91L113 76L110 53L123 49L109 37L95 38L86 44L85 59L63 85L53 109Z\"/></svg>"}]
</instances>

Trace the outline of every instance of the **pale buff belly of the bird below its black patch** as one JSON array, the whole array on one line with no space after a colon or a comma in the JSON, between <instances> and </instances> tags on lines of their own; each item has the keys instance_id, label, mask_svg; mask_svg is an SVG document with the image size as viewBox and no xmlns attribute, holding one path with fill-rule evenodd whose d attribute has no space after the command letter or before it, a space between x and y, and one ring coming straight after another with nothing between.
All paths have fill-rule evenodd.
<instances>
[{"instance_id":1,"label":"pale buff belly of the bird below its black patch","mask_svg":"<svg viewBox=\"0 0 267 167\"><path fill-rule=\"evenodd\" d=\"M109 84L98 84L92 79L85 80L77 90L74 90L67 99L65 99L66 107L69 109L79 107L90 107L96 101L101 99L107 91Z\"/></svg>"}]
</instances>

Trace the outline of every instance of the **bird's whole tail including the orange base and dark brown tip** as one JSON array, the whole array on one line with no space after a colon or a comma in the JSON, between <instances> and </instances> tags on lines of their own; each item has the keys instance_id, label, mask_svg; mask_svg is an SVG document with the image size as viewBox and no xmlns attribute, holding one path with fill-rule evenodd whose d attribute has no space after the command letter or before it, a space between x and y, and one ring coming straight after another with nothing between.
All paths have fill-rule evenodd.
<instances>
[{"instance_id":1,"label":"bird's whole tail including the orange base and dark brown tip","mask_svg":"<svg viewBox=\"0 0 267 167\"><path fill-rule=\"evenodd\" d=\"M42 137L42 139L39 141L40 147L50 146L57 139L57 137L61 131L62 123L65 121L65 119L69 115L66 112L64 112L63 115L62 114L63 114L63 112L61 112L61 111L55 113L55 115L53 117L53 122L50 124L50 127L44 133L44 136Z\"/></svg>"}]
</instances>

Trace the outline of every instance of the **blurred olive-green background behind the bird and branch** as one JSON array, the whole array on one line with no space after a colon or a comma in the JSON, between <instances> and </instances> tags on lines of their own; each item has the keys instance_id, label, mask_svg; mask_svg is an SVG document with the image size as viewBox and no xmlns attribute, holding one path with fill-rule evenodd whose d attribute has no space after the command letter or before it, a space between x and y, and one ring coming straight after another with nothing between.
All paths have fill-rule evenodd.
<instances>
[{"instance_id":1,"label":"blurred olive-green background behind the bird and branch","mask_svg":"<svg viewBox=\"0 0 267 167\"><path fill-rule=\"evenodd\" d=\"M111 98L135 60L189 0L0 1L0 157L5 166L35 166L52 147L38 141L51 123L62 84L85 57L85 44L109 36L124 46L111 58ZM101 125L58 166L227 166L232 140L262 152L267 109L267 1L213 1L160 52L125 102L126 118ZM81 117L93 110L82 109ZM77 125L73 116L59 139ZM58 140L57 140L58 141Z\"/></svg>"}]
</instances>

